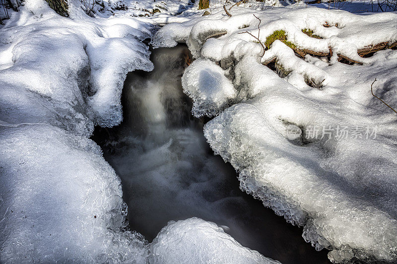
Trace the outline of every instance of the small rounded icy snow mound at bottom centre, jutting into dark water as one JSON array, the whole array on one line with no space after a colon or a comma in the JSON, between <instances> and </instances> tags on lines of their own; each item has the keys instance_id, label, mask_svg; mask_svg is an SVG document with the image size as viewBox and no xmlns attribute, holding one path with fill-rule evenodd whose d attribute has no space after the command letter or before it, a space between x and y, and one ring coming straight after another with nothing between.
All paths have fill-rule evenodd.
<instances>
[{"instance_id":1,"label":"small rounded icy snow mound at bottom centre, jutting into dark water","mask_svg":"<svg viewBox=\"0 0 397 264\"><path fill-rule=\"evenodd\" d=\"M150 244L150 264L277 264L243 247L213 222L200 218L170 221Z\"/></svg>"}]
</instances>

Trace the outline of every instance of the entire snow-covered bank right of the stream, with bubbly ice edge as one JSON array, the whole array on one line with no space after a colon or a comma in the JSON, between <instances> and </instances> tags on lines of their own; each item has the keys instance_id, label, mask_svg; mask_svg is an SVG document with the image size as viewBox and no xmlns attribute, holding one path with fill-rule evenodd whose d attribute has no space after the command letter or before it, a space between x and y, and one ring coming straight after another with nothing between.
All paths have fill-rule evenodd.
<instances>
[{"instance_id":1,"label":"entire snow-covered bank right of the stream, with bubbly ice edge","mask_svg":"<svg viewBox=\"0 0 397 264\"><path fill-rule=\"evenodd\" d=\"M249 34L239 34L258 36L259 20L253 14L262 20L263 42L275 30L284 30L298 48L329 52L331 47L334 55L330 60L310 55L301 59L275 41L261 58L261 45ZM219 71L229 72L238 96L234 106L204 127L211 148L238 170L243 190L288 222L304 226L304 239L317 250L331 249L332 262L396 262L396 116L372 96L371 83L377 78L374 93L396 105L397 52L389 49L363 58L357 50L396 42L397 14L293 6L255 12L240 8L232 15L219 12L169 24L154 38L159 46L186 41L200 61L210 59ZM326 23L331 27L323 26ZM301 31L305 28L323 39L307 36ZM227 34L207 39L222 30ZM336 54L363 65L342 64ZM261 64L271 57L281 77ZM185 86L206 93L207 88L195 85L197 75L183 78ZM308 80L318 88L310 87ZM212 112L205 102L198 108L200 113ZM318 136L308 140L301 133L290 138L291 126L301 131L317 127ZM347 126L351 134L337 135L338 126ZM361 136L355 136L359 129ZM376 137L370 135L374 129Z\"/></svg>"}]
</instances>

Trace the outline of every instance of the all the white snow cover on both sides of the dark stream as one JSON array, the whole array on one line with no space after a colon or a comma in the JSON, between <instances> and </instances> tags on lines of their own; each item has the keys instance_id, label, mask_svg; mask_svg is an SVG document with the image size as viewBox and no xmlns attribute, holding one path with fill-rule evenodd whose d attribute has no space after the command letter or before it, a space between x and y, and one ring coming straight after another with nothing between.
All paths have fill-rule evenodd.
<instances>
[{"instance_id":1,"label":"all the white snow cover on both sides of the dark stream","mask_svg":"<svg viewBox=\"0 0 397 264\"><path fill-rule=\"evenodd\" d=\"M90 17L70 0L65 18L44 0L25 0L10 19L0 11L0 262L276 263L197 218L170 222L152 244L128 231L120 178L88 139L94 125L122 121L126 74L153 69L142 41L174 21L183 23L163 27L154 45L187 42L198 58L184 89L196 116L216 116L204 134L239 170L241 187L304 225L304 238L333 249L334 262L396 261L396 116L370 86L377 78L374 93L397 105L397 52L357 54L397 41L396 13L266 1L228 17L213 1L201 16L197 3L104 0ZM280 29L299 48L331 47L331 59L298 58L280 41L261 58L262 46L239 34L265 41ZM227 34L208 38L216 33ZM261 64L272 59L284 78Z\"/></svg>"}]
</instances>

